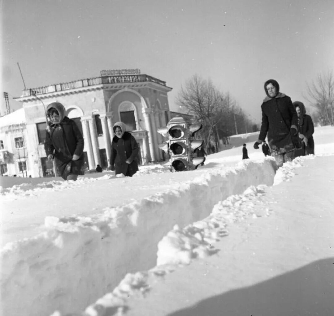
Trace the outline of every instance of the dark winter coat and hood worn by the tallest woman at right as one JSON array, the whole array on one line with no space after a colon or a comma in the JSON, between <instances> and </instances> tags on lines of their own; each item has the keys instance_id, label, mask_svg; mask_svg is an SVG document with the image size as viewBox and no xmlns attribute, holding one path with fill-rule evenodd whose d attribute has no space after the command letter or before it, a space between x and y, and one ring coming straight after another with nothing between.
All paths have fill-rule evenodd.
<instances>
[{"instance_id":1,"label":"dark winter coat and hood worn by the tallest woman at right","mask_svg":"<svg viewBox=\"0 0 334 316\"><path fill-rule=\"evenodd\" d=\"M271 154L275 156L295 149L290 129L297 130L297 112L291 98L279 92L278 83L277 95L270 97L266 89L267 82L265 83L267 97L261 105L262 123L259 140L262 142L267 136Z\"/></svg>"}]
</instances>

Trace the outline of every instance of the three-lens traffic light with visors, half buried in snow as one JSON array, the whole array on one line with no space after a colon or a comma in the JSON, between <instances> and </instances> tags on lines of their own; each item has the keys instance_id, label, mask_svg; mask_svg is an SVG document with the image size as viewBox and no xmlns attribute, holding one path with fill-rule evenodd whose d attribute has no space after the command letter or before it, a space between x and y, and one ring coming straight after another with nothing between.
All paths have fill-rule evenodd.
<instances>
[{"instance_id":1,"label":"three-lens traffic light with visors, half buried in snow","mask_svg":"<svg viewBox=\"0 0 334 316\"><path fill-rule=\"evenodd\" d=\"M172 170L194 170L205 161L205 157L194 157L194 151L203 145L203 140L194 139L201 128L202 124L190 124L181 116L173 117L166 127L158 128L160 134L168 137L159 147L169 153Z\"/></svg>"}]
</instances>

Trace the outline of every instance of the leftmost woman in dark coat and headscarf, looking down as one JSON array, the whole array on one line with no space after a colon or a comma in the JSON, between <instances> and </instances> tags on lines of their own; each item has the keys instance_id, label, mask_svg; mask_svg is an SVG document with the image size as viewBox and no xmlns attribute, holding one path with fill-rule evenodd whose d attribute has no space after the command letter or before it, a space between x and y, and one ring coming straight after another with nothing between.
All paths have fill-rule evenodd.
<instances>
[{"instance_id":1,"label":"leftmost woman in dark coat and headscarf, looking down","mask_svg":"<svg viewBox=\"0 0 334 316\"><path fill-rule=\"evenodd\" d=\"M76 123L65 116L61 103L50 103L47 108L47 127L44 149L48 160L55 159L64 180L76 180L84 175L82 134Z\"/></svg>"}]
</instances>

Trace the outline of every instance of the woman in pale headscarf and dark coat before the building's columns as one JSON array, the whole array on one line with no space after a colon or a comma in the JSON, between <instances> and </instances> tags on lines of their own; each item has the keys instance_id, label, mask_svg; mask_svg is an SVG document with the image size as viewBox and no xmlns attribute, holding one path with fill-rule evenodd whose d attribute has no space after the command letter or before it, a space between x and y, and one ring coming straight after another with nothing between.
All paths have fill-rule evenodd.
<instances>
[{"instance_id":1,"label":"woman in pale headscarf and dark coat before the building's columns","mask_svg":"<svg viewBox=\"0 0 334 316\"><path fill-rule=\"evenodd\" d=\"M138 144L123 122L116 122L113 127L115 136L111 144L110 170L115 170L115 174L123 174L132 177L138 171L136 157L138 154Z\"/></svg>"}]
</instances>

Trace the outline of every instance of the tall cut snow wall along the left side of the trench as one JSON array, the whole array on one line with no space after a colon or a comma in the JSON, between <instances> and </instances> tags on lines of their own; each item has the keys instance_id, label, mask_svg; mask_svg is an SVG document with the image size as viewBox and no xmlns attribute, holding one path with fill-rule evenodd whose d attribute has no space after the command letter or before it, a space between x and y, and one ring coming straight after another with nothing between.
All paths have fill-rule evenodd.
<instances>
[{"instance_id":1,"label":"tall cut snow wall along the left side of the trench","mask_svg":"<svg viewBox=\"0 0 334 316\"><path fill-rule=\"evenodd\" d=\"M273 160L249 161L208 170L175 189L105 208L103 214L46 218L43 233L7 244L1 252L3 309L8 315L82 310L127 273L154 267L157 244L174 225L202 220L216 203L250 186L272 185L275 171Z\"/></svg>"}]
</instances>

